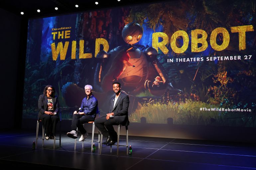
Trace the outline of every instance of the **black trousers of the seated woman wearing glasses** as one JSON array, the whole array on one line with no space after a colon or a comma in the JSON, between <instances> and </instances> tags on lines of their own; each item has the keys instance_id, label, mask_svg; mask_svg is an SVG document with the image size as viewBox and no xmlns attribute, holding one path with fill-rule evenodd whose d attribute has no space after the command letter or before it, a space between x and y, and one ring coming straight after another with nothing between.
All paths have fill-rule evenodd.
<instances>
[{"instance_id":1,"label":"black trousers of the seated woman wearing glasses","mask_svg":"<svg viewBox=\"0 0 256 170\"><path fill-rule=\"evenodd\" d=\"M44 128L45 128L45 133L47 135L54 135L56 134L56 125L58 123L59 116L57 115L48 115L48 114L42 114L40 116L40 120L42 120Z\"/></svg>"}]
</instances>

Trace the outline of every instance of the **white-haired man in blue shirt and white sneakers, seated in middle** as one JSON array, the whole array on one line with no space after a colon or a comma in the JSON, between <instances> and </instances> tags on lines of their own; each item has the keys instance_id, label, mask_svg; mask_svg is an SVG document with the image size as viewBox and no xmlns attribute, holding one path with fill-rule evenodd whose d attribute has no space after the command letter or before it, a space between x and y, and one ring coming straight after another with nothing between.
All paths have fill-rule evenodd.
<instances>
[{"instance_id":1,"label":"white-haired man in blue shirt and white sneakers, seated in middle","mask_svg":"<svg viewBox=\"0 0 256 170\"><path fill-rule=\"evenodd\" d=\"M83 124L94 121L96 114L99 112L98 101L92 94L92 86L85 85L84 89L87 96L84 97L82 100L82 104L80 107L81 109L79 108L79 111L74 111L72 117L71 132L67 133L67 136L69 138L76 139L76 129L78 129L82 134L79 141L85 140L85 138L88 136L88 133L84 129Z\"/></svg>"}]
</instances>

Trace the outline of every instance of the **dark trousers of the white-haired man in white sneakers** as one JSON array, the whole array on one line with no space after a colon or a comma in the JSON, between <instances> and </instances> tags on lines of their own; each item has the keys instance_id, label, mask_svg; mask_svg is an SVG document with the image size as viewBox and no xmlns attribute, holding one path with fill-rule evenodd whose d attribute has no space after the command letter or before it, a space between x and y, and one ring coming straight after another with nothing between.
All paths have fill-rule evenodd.
<instances>
[{"instance_id":1,"label":"dark trousers of the white-haired man in white sneakers","mask_svg":"<svg viewBox=\"0 0 256 170\"><path fill-rule=\"evenodd\" d=\"M81 134L85 134L86 130L84 129L84 123L88 123L94 121L94 118L89 115L80 115L80 114L73 114L72 117L72 124L71 124L71 131L76 131L76 128L80 131Z\"/></svg>"}]
</instances>

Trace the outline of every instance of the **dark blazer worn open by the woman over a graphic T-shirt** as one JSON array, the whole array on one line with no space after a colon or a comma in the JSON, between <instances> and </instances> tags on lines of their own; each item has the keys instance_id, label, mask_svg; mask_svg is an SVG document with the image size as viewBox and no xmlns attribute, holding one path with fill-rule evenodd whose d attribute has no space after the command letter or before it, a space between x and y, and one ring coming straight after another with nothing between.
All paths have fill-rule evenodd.
<instances>
[{"instance_id":1,"label":"dark blazer worn open by the woman over a graphic T-shirt","mask_svg":"<svg viewBox=\"0 0 256 170\"><path fill-rule=\"evenodd\" d=\"M40 95L39 99L38 99L39 113L38 113L37 120L40 119L40 116L42 114L45 114L45 110L46 110L47 106L48 106L47 96L44 95L44 94ZM57 112L57 115L59 116L59 99L58 99L58 96L53 97L53 107L54 107L54 111Z\"/></svg>"}]
</instances>

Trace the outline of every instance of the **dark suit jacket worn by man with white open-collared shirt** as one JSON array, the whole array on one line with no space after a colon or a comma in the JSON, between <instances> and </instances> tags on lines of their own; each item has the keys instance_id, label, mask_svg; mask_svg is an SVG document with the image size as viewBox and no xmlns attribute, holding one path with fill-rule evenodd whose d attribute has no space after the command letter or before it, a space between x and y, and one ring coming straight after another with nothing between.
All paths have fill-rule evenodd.
<instances>
[{"instance_id":1,"label":"dark suit jacket worn by man with white open-collared shirt","mask_svg":"<svg viewBox=\"0 0 256 170\"><path fill-rule=\"evenodd\" d=\"M108 113L114 113L114 119L117 124L128 126L129 96L121 92L114 106L115 96L116 95L110 99L110 108Z\"/></svg>"}]
</instances>

